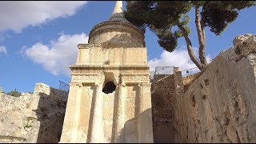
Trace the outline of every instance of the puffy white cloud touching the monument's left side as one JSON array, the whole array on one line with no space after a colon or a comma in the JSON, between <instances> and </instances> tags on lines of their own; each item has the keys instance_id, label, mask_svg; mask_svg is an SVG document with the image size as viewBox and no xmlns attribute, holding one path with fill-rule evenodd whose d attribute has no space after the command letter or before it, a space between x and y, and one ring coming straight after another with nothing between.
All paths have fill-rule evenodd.
<instances>
[{"instance_id":1,"label":"puffy white cloud touching the monument's left side","mask_svg":"<svg viewBox=\"0 0 256 144\"><path fill-rule=\"evenodd\" d=\"M56 41L51 41L50 45L38 42L30 48L22 48L22 53L33 62L42 65L52 74L70 75L70 64L75 64L78 55L79 43L87 43L86 34L74 34L61 36Z\"/></svg>"}]
</instances>

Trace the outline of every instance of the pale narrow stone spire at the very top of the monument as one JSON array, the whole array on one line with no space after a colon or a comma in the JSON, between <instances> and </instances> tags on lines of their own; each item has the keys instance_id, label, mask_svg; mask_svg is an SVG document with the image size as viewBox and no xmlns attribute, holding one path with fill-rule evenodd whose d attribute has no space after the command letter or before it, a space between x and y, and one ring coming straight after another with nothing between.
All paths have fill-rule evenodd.
<instances>
[{"instance_id":1,"label":"pale narrow stone spire at the very top of the monument","mask_svg":"<svg viewBox=\"0 0 256 144\"><path fill-rule=\"evenodd\" d=\"M122 12L122 1L116 1L113 13L110 16L109 21L122 21L128 22Z\"/></svg>"}]
</instances>

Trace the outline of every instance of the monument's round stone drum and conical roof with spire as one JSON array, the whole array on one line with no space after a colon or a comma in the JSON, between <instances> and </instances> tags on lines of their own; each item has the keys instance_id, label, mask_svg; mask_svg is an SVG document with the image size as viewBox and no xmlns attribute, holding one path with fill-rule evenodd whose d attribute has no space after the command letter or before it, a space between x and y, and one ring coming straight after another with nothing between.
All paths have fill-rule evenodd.
<instances>
[{"instance_id":1,"label":"monument's round stone drum and conical roof with spire","mask_svg":"<svg viewBox=\"0 0 256 144\"><path fill-rule=\"evenodd\" d=\"M89 44L111 43L111 46L144 47L144 34L131 24L122 11L122 1L116 1L113 13L105 22L90 30Z\"/></svg>"}]
</instances>

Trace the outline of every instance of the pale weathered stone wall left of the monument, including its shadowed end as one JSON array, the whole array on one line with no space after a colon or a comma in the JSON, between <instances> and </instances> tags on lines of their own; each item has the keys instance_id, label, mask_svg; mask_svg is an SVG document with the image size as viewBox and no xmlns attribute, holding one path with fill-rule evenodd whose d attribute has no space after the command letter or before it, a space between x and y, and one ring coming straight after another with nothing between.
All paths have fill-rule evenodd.
<instances>
[{"instance_id":1,"label":"pale weathered stone wall left of the monument, including its shadowed end","mask_svg":"<svg viewBox=\"0 0 256 144\"><path fill-rule=\"evenodd\" d=\"M66 98L43 83L18 98L0 93L0 142L59 142Z\"/></svg>"}]
</instances>

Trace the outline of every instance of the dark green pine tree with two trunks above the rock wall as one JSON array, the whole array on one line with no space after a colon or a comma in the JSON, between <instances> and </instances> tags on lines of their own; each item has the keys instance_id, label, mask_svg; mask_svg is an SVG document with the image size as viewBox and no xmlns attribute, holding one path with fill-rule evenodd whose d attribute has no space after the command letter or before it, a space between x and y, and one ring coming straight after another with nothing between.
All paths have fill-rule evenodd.
<instances>
[{"instance_id":1,"label":"dark green pine tree with two trunks above the rock wall","mask_svg":"<svg viewBox=\"0 0 256 144\"><path fill-rule=\"evenodd\" d=\"M158 36L158 44L169 52L176 48L178 38L185 38L190 59L203 70L208 64L205 27L220 35L229 23L238 18L239 10L250 6L255 6L255 1L126 1L124 14L142 32L145 33L146 27L149 27ZM190 17L187 13L190 10L194 10L199 59L189 38L190 28L187 24ZM178 30L172 30L174 26L178 26Z\"/></svg>"}]
</instances>

